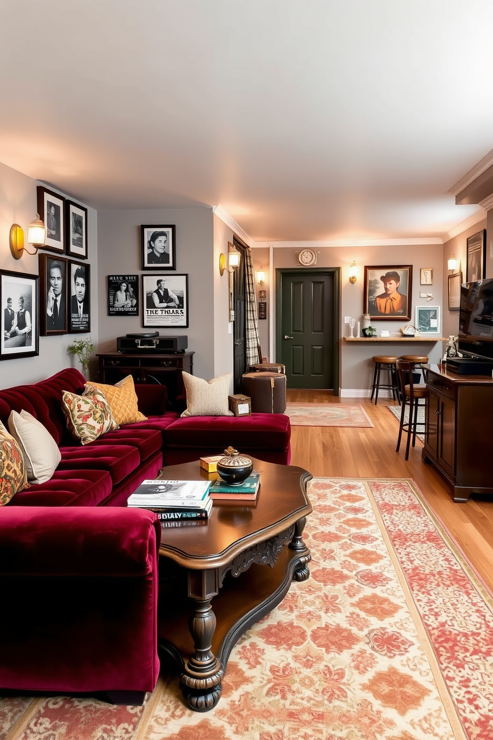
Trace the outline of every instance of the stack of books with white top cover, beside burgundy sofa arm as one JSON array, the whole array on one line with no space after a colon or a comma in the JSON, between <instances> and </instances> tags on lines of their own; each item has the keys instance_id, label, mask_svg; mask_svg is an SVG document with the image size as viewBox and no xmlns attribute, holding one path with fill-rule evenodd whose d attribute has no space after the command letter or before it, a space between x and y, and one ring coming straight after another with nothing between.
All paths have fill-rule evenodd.
<instances>
[{"instance_id":1,"label":"stack of books with white top cover, beside burgundy sofa arm","mask_svg":"<svg viewBox=\"0 0 493 740\"><path fill-rule=\"evenodd\" d=\"M209 480L144 480L127 506L155 511L162 522L207 519L212 508Z\"/></svg>"}]
</instances>

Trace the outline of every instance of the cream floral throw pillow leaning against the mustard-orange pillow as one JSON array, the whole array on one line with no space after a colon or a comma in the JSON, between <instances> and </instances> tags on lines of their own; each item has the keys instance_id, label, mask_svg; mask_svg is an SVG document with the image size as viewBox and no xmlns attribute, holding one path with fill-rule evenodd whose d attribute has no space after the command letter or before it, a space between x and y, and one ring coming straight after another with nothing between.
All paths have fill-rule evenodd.
<instances>
[{"instance_id":1,"label":"cream floral throw pillow leaning against the mustard-orange pillow","mask_svg":"<svg viewBox=\"0 0 493 740\"><path fill-rule=\"evenodd\" d=\"M106 431L118 429L106 396L97 388L85 391L81 396L64 391L62 408L72 436L81 440L83 445L97 440Z\"/></svg>"}]
</instances>

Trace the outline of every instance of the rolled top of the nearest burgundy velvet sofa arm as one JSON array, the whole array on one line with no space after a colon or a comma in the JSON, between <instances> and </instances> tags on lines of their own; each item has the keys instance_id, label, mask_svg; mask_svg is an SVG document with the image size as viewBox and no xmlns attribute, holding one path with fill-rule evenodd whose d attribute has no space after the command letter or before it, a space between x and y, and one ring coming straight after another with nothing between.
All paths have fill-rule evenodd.
<instances>
[{"instance_id":1,"label":"rolled top of the nearest burgundy velvet sofa arm","mask_svg":"<svg viewBox=\"0 0 493 740\"><path fill-rule=\"evenodd\" d=\"M0 511L2 576L146 576L160 524L118 507L6 506Z\"/></svg>"}]
</instances>

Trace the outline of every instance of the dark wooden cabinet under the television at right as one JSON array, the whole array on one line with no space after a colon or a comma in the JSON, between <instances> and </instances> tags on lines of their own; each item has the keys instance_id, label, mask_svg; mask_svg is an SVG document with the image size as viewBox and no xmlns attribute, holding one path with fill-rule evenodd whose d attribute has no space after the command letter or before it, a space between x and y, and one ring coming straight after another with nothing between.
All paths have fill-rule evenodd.
<instances>
[{"instance_id":1,"label":"dark wooden cabinet under the television at right","mask_svg":"<svg viewBox=\"0 0 493 740\"><path fill-rule=\"evenodd\" d=\"M423 460L446 477L454 501L493 494L493 380L433 366L427 387Z\"/></svg>"}]
</instances>

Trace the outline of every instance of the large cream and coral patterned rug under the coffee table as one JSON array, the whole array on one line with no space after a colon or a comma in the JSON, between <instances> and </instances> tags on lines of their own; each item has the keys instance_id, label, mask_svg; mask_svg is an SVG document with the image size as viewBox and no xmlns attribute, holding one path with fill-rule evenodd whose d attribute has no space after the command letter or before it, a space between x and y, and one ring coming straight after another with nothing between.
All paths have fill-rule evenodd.
<instances>
[{"instance_id":1,"label":"large cream and coral patterned rug under the coffee table","mask_svg":"<svg viewBox=\"0 0 493 740\"><path fill-rule=\"evenodd\" d=\"M2 740L492 740L492 596L410 480L313 479L310 578L231 652L217 707L0 701ZM214 604L214 602L213 602Z\"/></svg>"}]
</instances>

